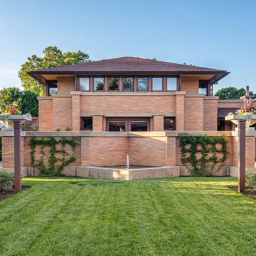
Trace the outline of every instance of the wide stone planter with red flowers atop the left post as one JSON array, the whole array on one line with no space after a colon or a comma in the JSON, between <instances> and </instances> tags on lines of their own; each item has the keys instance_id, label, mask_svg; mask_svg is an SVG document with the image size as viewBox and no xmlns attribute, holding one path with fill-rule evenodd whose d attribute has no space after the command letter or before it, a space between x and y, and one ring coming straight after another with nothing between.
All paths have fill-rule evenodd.
<instances>
[{"instance_id":1,"label":"wide stone planter with red flowers atop the left post","mask_svg":"<svg viewBox=\"0 0 256 256\"><path fill-rule=\"evenodd\" d=\"M24 123L26 120L31 120L31 115L26 114L26 115L21 115L20 111L18 109L18 106L15 101L11 103L8 102L8 105L4 104L7 106L6 110L4 113L0 114L0 123L6 125L7 127L13 127L13 120L14 119L19 119L21 120L21 124Z\"/></svg>"}]
</instances>

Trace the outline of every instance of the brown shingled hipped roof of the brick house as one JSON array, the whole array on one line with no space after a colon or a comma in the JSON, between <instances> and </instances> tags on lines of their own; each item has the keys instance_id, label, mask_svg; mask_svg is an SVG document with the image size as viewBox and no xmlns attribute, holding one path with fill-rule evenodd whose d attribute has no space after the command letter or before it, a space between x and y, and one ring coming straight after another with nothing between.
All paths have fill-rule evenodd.
<instances>
[{"instance_id":1,"label":"brown shingled hipped roof of the brick house","mask_svg":"<svg viewBox=\"0 0 256 256\"><path fill-rule=\"evenodd\" d=\"M34 70L33 70L34 71ZM44 68L36 71L49 71L49 72L76 72L76 71L166 71L166 72L199 72L199 71L222 71L213 68L201 68L196 66L189 66L183 64L176 64L158 60L146 60L134 57L121 57L108 60L98 60L86 63L79 63L74 65L67 65L55 68Z\"/></svg>"}]
</instances>

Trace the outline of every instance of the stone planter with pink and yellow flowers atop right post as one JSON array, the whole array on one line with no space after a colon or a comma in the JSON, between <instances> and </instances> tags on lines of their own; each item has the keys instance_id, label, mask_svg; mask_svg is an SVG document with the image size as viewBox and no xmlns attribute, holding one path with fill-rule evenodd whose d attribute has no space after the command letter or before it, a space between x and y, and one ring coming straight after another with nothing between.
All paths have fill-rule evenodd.
<instances>
[{"instance_id":1,"label":"stone planter with pink and yellow flowers atop right post","mask_svg":"<svg viewBox=\"0 0 256 256\"><path fill-rule=\"evenodd\" d=\"M228 113L228 116L225 116L225 120L230 120L237 125L238 119L246 119L245 127L248 130L250 125L256 123L256 110L254 110L251 106L251 98L243 100L244 106L237 109L235 115L233 113Z\"/></svg>"}]
</instances>

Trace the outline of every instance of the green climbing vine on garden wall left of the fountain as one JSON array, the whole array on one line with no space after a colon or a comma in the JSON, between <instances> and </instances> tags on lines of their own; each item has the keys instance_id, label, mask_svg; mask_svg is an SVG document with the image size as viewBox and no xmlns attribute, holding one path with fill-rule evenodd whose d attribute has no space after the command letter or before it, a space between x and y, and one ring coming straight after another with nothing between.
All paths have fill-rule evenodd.
<instances>
[{"instance_id":1,"label":"green climbing vine on garden wall left of the fountain","mask_svg":"<svg viewBox=\"0 0 256 256\"><path fill-rule=\"evenodd\" d=\"M61 144L61 149L57 149L56 145ZM69 144L72 148L72 155L66 159L65 156L68 156L68 152L65 150L66 144ZM79 142L77 141L76 138L65 138L62 137L61 139L57 140L54 137L49 137L49 139L36 139L35 137L32 137L31 140L29 141L29 145L31 147L31 164L35 167L38 168L40 173L42 175L46 176L60 176L62 175L60 172L63 169L64 166L67 166L68 164L75 162L76 161L76 156L75 156L75 148L77 145L79 145ZM39 160L35 159L35 152L36 152L36 146L41 145L41 154L42 156L40 157ZM49 153L50 156L48 157L48 168L45 167L44 165L44 147L45 146L50 146ZM63 157L56 157L56 153L62 153ZM55 163L57 161L61 161L60 166L56 166Z\"/></svg>"}]
</instances>

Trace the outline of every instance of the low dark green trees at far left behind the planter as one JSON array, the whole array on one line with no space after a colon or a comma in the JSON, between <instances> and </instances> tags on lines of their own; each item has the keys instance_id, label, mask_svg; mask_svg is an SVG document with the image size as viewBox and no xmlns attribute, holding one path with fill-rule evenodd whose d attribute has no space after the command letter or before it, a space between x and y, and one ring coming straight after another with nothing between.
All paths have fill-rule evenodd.
<instances>
[{"instance_id":1,"label":"low dark green trees at far left behind the planter","mask_svg":"<svg viewBox=\"0 0 256 256\"><path fill-rule=\"evenodd\" d=\"M38 100L37 94L30 91L20 91L19 88L10 87L4 88L0 91L0 107L4 112L7 108L6 105L15 101L19 105L19 111L21 114L30 114L32 116L38 116Z\"/></svg>"}]
</instances>

